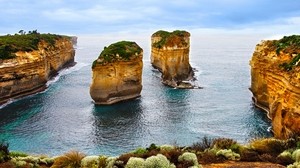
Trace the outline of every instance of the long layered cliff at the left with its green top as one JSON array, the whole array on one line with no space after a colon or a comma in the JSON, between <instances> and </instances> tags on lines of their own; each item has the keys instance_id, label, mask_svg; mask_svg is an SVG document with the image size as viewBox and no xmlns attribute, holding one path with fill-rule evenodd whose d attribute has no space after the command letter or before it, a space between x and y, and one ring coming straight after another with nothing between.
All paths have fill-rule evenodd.
<instances>
[{"instance_id":1,"label":"long layered cliff at the left with its green top","mask_svg":"<svg viewBox=\"0 0 300 168\"><path fill-rule=\"evenodd\" d=\"M74 63L70 37L22 34L0 37L0 104L46 88L47 81Z\"/></svg>"}]
</instances>

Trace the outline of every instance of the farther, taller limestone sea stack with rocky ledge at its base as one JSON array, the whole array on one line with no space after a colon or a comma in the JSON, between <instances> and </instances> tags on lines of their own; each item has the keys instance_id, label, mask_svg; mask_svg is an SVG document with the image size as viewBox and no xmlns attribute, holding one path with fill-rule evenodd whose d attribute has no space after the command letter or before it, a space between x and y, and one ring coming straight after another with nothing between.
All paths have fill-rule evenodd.
<instances>
[{"instance_id":1,"label":"farther, taller limestone sea stack with rocky ledge at its base","mask_svg":"<svg viewBox=\"0 0 300 168\"><path fill-rule=\"evenodd\" d=\"M157 31L151 36L151 64L162 73L162 83L174 88L193 88L189 63L190 33Z\"/></svg>"}]
</instances>

